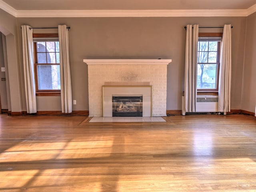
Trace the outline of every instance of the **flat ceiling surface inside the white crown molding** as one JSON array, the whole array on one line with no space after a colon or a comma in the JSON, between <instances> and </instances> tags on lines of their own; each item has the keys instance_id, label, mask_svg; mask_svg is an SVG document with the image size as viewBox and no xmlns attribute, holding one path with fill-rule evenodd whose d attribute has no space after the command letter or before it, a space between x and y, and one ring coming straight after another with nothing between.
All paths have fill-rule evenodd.
<instances>
[{"instance_id":1,"label":"flat ceiling surface inside the white crown molding","mask_svg":"<svg viewBox=\"0 0 256 192\"><path fill-rule=\"evenodd\" d=\"M3 0L16 10L248 9L256 0Z\"/></svg>"}]
</instances>

